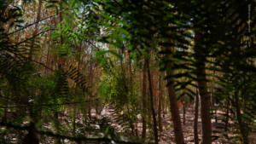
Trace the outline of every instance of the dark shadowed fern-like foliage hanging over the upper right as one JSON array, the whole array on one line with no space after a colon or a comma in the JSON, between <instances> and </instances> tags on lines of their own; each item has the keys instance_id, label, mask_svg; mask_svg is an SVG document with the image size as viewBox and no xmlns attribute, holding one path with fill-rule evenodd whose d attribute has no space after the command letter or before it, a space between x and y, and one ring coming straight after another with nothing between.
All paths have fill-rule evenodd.
<instances>
[{"instance_id":1,"label":"dark shadowed fern-like foliage hanging over the upper right","mask_svg":"<svg viewBox=\"0 0 256 144\"><path fill-rule=\"evenodd\" d=\"M214 87L215 99L222 101L229 99L225 94L228 93L227 79L234 79L236 75L240 75L241 85L235 84L233 87L237 89L238 98L234 102L234 98L230 99L232 106L240 109L241 104L237 102L241 100L252 100L253 91L247 91L242 89L242 86L251 89L253 81L253 72L255 72L255 66L251 65L249 58L254 58L256 54L255 43L253 43L254 33L253 30L248 30L247 14L248 5L254 8L255 3L253 1L237 2L237 1L173 1L172 3L159 2L159 1L108 1L102 3L103 11L108 15L103 15L103 18L110 21L102 23L102 26L115 29L119 31L119 34L113 35L113 33L98 39L99 42L113 44L119 49L124 49L122 45L117 43L128 42L129 50L135 55L141 54L142 51L148 51L148 48L153 46L149 41L167 40L166 42L158 41L158 45L162 47L174 47L189 49L193 47L194 52L179 51L175 52L162 50L160 54L167 55L172 54L172 60L163 60L165 65L162 71L168 70L170 67L167 64L172 64L172 69L177 71L185 69L187 72L180 74L176 73L166 78L188 78L188 82L172 82L175 83L174 88L176 90L187 88L186 95L193 97L195 93L192 88L195 89L194 82L205 81L205 79L199 79L200 75L205 75L201 70L209 70L222 72L227 75L226 78L215 76L218 81L212 82L219 85L218 88ZM230 6L232 5L232 6ZM159 10L156 10L159 9ZM250 15L255 13L255 9L251 9ZM123 19L120 21L119 18ZM250 18L252 23L255 23L254 17ZM239 22L238 22L239 21ZM115 25L115 23L121 23L123 25ZM251 23L251 24L252 24ZM190 25L190 26L189 26ZM241 26L243 28L241 28ZM252 25L251 25L252 26ZM190 32L200 31L201 39L195 39L198 44L191 45L189 39L194 39ZM251 31L248 33L248 31ZM202 34L203 33L203 34ZM122 38L118 38L119 36ZM242 36L248 37L247 42L242 40ZM113 38L116 40L113 42ZM248 44L250 43L250 44ZM201 54L201 55L199 55ZM209 59L214 58L215 61ZM214 67L206 66L206 64L213 64ZM195 67L201 67L196 69ZM248 78L242 78L250 73ZM210 75L212 77L212 75ZM233 81L233 80L232 80ZM208 81L210 82L210 81ZM234 83L233 83L234 84ZM167 84L169 85L169 84ZM246 96L247 95L247 96ZM238 102L239 103L239 102ZM253 107L253 106L251 106ZM250 112L249 107L244 107L245 111ZM251 113L253 114L253 113ZM242 123L248 120L248 125L252 119L241 115ZM247 120L246 120L247 119ZM249 120L250 119L250 120ZM241 129L248 129L247 126ZM250 128L251 131L253 128ZM247 130L245 130L247 131ZM248 135L248 134L247 134ZM246 136L247 136L246 135ZM224 135L227 137L227 135ZM228 137L227 137L228 138Z\"/></svg>"}]
</instances>

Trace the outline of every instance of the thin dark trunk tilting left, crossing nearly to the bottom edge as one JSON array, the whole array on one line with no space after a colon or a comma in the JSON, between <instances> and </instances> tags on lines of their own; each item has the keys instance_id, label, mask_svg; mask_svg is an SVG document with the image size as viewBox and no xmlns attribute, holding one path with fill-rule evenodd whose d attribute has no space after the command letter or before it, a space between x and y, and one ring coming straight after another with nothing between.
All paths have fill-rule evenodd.
<instances>
[{"instance_id":1,"label":"thin dark trunk tilting left, crossing nearly to the bottom edge","mask_svg":"<svg viewBox=\"0 0 256 144\"><path fill-rule=\"evenodd\" d=\"M146 59L146 64L148 68L148 88L150 93L150 107L153 115L153 122L154 122L154 141L155 143L158 143L158 134L157 134L157 124L156 124L156 118L154 114L154 105L153 105L153 90L152 90L152 84L151 84L151 76L150 76L150 69L149 69L149 61Z\"/></svg>"}]
</instances>

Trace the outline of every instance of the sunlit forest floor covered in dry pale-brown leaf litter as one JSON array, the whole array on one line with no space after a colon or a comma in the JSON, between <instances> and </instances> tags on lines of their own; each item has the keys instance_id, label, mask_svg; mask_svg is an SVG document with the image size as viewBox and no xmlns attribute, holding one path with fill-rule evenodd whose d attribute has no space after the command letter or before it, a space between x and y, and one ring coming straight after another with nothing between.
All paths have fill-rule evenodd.
<instances>
[{"instance_id":1,"label":"sunlit forest floor covered in dry pale-brown leaf litter","mask_svg":"<svg viewBox=\"0 0 256 144\"><path fill-rule=\"evenodd\" d=\"M183 135L184 135L184 141L187 144L193 144L194 142L194 110L192 107L189 107L187 109L186 115L185 115L185 124L183 124L183 108L180 107L180 117L181 117L181 121L182 121L182 126L183 126ZM64 112L65 113L65 112ZM217 111L218 116L220 116L219 114L221 113L221 111ZM65 114L68 114L67 112ZM109 112L109 107L104 107L102 109L102 113L101 115L107 116L109 118L111 118L111 113ZM91 116L95 117L96 116L96 111L95 109L91 110ZM83 117L83 114L79 114L79 118L76 119L76 123L79 124L83 124L83 122L81 121L81 118ZM229 122L230 124L232 124L232 122ZM121 128L117 123L115 122L111 122L111 124L114 124L115 126L119 128ZM172 121L171 121L171 117L170 114L167 112L165 118L162 118L162 124L163 124L163 132L160 132L160 144L172 144L175 143L174 141L174 133L172 130ZM221 120L218 120L218 126L222 126L224 127L224 123L221 122ZM138 130L138 135L142 135L142 128L143 128L143 124L142 123L138 123L137 124L137 130ZM50 129L50 128L49 128ZM121 129L120 129L121 130ZM199 140L201 142L201 112L199 112L199 116L198 116L198 137ZM216 124L215 124L215 119L212 118L212 131L213 130L218 130L218 131L222 131L224 132L223 129L217 129L216 128ZM234 131L236 130L236 128L233 126L231 126L230 128L230 132L228 132L227 134L229 136L235 136L234 134L232 134ZM147 131L148 132L148 131ZM147 134L149 135L149 134ZM212 133L212 135L218 135L219 138L217 141L212 142L212 144L228 144L228 143L238 143L238 141L234 142L234 141L228 141L224 138L224 136L222 134L216 134L216 133ZM255 133L253 133L253 135L251 136L251 138L253 138L255 140L256 144L256 135ZM13 141L16 141L16 139L13 139ZM53 141L51 139L49 139L49 141ZM50 143L50 142L49 142Z\"/></svg>"}]
</instances>

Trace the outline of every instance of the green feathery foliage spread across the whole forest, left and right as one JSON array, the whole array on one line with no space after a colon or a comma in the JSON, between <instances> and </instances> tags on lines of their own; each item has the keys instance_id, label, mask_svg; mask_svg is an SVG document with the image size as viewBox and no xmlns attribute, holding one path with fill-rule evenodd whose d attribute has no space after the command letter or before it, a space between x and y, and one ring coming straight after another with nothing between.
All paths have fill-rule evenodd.
<instances>
[{"instance_id":1,"label":"green feathery foliage spread across the whole forest, left and right","mask_svg":"<svg viewBox=\"0 0 256 144\"><path fill-rule=\"evenodd\" d=\"M133 130L132 124L137 123L137 114L142 111L138 107L139 83L134 77L143 67L141 57L150 54L155 57L154 63L160 64L161 72L170 69L174 71L172 76L166 76L165 79L174 78L175 81L166 86L174 84L175 91L183 91L180 96L188 95L193 99L194 89L197 87L195 82L212 83L206 89L212 89L214 101L220 107L233 113L241 141L246 141L246 137L252 134L254 126L251 124L256 114L253 111L256 108L253 96L256 79L253 74L256 72L253 0L47 2L46 8L55 9L56 15L69 15L63 16L64 20L55 27L48 41L55 50L53 55L57 57L56 60L74 58L76 62L80 61L84 55L81 50L82 42L95 48L96 57L90 54L88 61L95 61L96 65L101 63L104 74L100 79L101 83L96 86L97 95L91 94L92 88L88 85L87 77L75 66L51 70L43 63L27 58L27 48L31 47L32 39L35 40L34 51L39 51L40 39L36 37L51 29L44 28L44 32L38 33L36 37L14 42L10 38L11 34L32 25L22 26L25 20L21 18L25 9L15 5L9 7L9 3L0 1L0 91L3 100L1 105L14 106L9 110L14 115L10 122L23 124L25 121L39 121L43 115L53 122L52 113L60 112L64 107L55 104L60 101L84 101L84 95L89 95L90 98L102 100L92 103L93 107L108 104L113 109L113 120L124 129ZM249 11L248 8L252 9ZM247 23L248 11L252 15L250 23ZM73 25L75 19L79 23L77 27ZM7 33L6 26L14 26L15 32ZM17 28L20 29L16 30ZM200 38L193 36L195 32ZM192 43L193 40L195 44ZM99 46L102 43L108 44L109 48ZM129 57L132 60L125 59L127 50L131 52ZM172 55L172 59L167 60L165 55ZM127 72L131 65L137 67ZM51 71L53 74L44 71ZM206 76L207 79L201 79L200 76ZM210 90L207 94L210 94ZM26 95L32 105L42 107L15 107L22 95ZM52 107L43 107L43 104ZM78 107L84 107L84 104L79 104ZM29 118L26 118L27 115ZM230 117L229 114L223 116ZM71 121L72 119L70 118ZM91 123L97 124L97 120ZM68 123L67 128L63 131L70 132L72 124ZM81 134L85 134L86 130L92 131L90 125ZM111 135L111 139L119 141L119 136L109 125L102 130L106 130L105 138ZM227 140L238 138L223 135ZM24 138L25 135L19 136ZM212 137L214 140L218 139L216 135ZM3 141L2 135L0 139Z\"/></svg>"}]
</instances>

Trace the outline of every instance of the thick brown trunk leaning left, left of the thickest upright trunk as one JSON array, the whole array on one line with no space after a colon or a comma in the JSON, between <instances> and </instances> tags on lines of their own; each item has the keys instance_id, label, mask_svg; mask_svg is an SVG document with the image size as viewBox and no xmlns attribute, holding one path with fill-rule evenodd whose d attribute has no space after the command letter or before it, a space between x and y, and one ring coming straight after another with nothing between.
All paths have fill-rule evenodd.
<instances>
[{"instance_id":1,"label":"thick brown trunk leaning left, left of the thickest upright trunk","mask_svg":"<svg viewBox=\"0 0 256 144\"><path fill-rule=\"evenodd\" d=\"M166 48L168 50L174 51L173 48ZM166 60L172 59L172 55L166 55ZM172 67L172 65L168 65L168 67ZM172 76L173 70L166 71L166 76ZM167 84L173 82L173 78L167 79ZM173 129L174 129L174 135L175 135L175 141L177 144L183 144L184 138L183 138L183 130L182 130L182 124L180 120L179 110L177 107L177 96L173 89L173 83L168 86L168 96L169 96L169 102L170 102L170 110L172 114L172 123L173 123Z\"/></svg>"}]
</instances>

